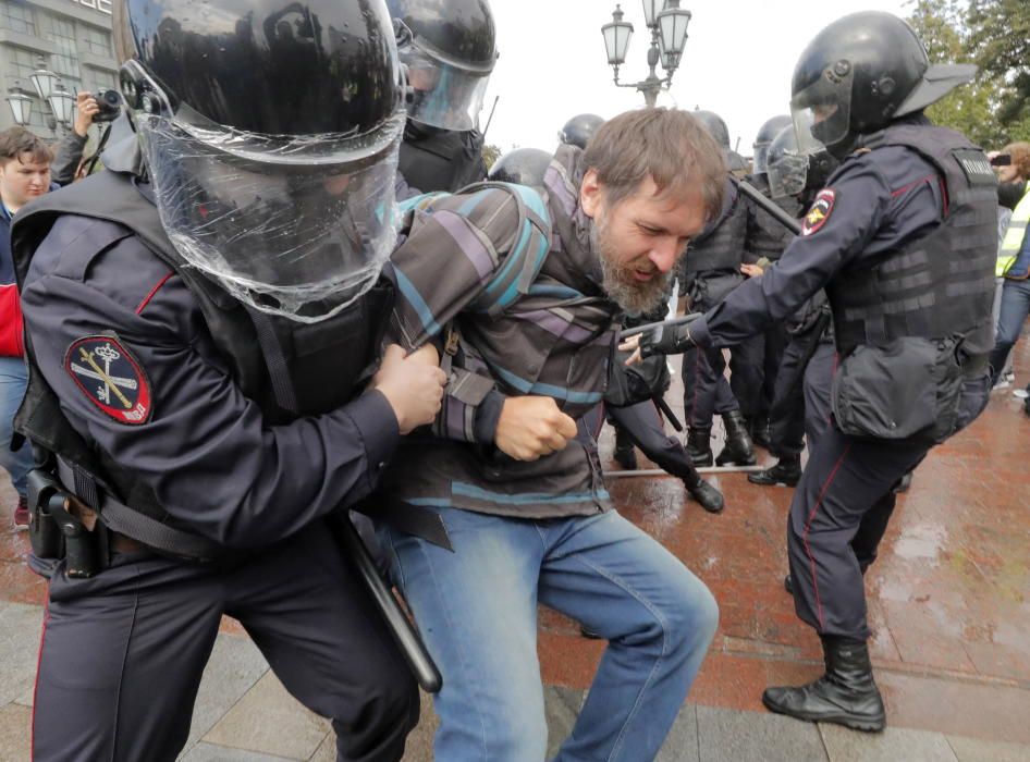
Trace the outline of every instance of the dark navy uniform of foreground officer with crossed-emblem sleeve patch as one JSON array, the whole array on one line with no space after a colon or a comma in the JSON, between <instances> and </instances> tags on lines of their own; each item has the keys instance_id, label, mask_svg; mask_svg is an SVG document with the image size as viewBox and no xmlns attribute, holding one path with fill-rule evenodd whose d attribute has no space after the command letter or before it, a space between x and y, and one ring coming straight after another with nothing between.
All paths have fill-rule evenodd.
<instances>
[{"instance_id":1,"label":"dark navy uniform of foreground officer with crossed-emblem sleeve patch","mask_svg":"<svg viewBox=\"0 0 1030 762\"><path fill-rule=\"evenodd\" d=\"M385 398L350 391L373 316L297 335L299 367L339 374L307 379L332 390L322 409L281 409L270 371L241 368L259 345L254 327L241 341L229 325L238 305L175 266L146 189L103 172L49 194L15 228L35 377L23 430L64 455L77 435L85 452L62 458L65 486L112 520L115 504L123 519L143 516L105 534L96 576L52 569L34 758L175 759L228 614L286 689L332 718L341 759L400 759L414 680L327 526L372 491L398 441ZM172 557L186 548L205 563Z\"/></svg>"}]
</instances>

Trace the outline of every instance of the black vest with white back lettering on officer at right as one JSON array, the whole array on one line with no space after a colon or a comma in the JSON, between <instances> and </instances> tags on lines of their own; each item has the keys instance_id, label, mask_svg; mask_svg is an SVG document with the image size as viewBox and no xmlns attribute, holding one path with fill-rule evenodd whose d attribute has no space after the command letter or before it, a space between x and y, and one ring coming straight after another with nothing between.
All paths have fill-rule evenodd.
<instances>
[{"instance_id":1,"label":"black vest with white back lettering on officer at right","mask_svg":"<svg viewBox=\"0 0 1030 762\"><path fill-rule=\"evenodd\" d=\"M841 355L905 336L957 335L967 356L990 352L997 195L983 152L951 130L915 125L888 127L866 146L916 150L943 176L947 206L929 235L827 285Z\"/></svg>"}]
</instances>

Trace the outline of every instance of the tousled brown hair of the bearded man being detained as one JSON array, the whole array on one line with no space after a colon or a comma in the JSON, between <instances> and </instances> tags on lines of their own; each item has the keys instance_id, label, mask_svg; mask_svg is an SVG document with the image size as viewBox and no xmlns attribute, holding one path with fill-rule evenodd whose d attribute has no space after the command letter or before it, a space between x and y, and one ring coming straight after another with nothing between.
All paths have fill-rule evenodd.
<instances>
[{"instance_id":1,"label":"tousled brown hair of the bearded man being detained","mask_svg":"<svg viewBox=\"0 0 1030 762\"><path fill-rule=\"evenodd\" d=\"M722 208L726 160L719 144L687 111L639 109L610 119L587 144L583 167L598 173L612 205L650 176L662 195L700 192L709 221Z\"/></svg>"}]
</instances>

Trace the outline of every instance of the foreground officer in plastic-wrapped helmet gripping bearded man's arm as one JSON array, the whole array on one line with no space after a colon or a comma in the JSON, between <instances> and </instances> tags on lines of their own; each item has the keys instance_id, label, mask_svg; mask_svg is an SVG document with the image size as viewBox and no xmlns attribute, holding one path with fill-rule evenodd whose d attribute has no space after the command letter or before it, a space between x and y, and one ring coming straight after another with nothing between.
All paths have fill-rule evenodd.
<instances>
[{"instance_id":1,"label":"foreground officer in plastic-wrapped helmet gripping bearded man's arm","mask_svg":"<svg viewBox=\"0 0 1030 762\"><path fill-rule=\"evenodd\" d=\"M108 169L14 229L19 426L47 459L34 758L175 759L229 614L333 721L340 759L397 760L414 680L331 531L443 393L434 356L379 364L404 124L390 19L209 4L211 28L115 5L130 113Z\"/></svg>"}]
</instances>

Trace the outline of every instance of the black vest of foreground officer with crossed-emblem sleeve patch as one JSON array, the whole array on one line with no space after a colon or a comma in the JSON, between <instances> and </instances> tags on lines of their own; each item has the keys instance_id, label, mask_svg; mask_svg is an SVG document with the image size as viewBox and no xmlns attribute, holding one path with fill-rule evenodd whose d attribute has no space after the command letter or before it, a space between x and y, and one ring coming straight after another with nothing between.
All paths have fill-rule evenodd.
<instances>
[{"instance_id":1,"label":"black vest of foreground officer with crossed-emblem sleeve patch","mask_svg":"<svg viewBox=\"0 0 1030 762\"><path fill-rule=\"evenodd\" d=\"M44 196L20 218L13 241L19 284L24 283L33 253L62 214L112 223L90 228L97 239L84 237L76 245L94 245L101 250L114 241L135 235L182 278L199 305L216 346L228 360L233 380L260 407L269 423L339 408L371 378L393 307L394 287L389 276L380 279L350 308L316 323L247 309L195 268L185 266L161 226L157 208L131 176L106 171L60 194ZM64 487L98 508L101 517L103 492L110 493L120 508L140 514L142 518L127 523L105 519L115 531L174 556L217 557L220 548L216 543L189 532L161 507L148 486L72 427L36 365L30 339L26 335L29 383L15 428L57 455L63 471L74 472L74 484L64 478ZM327 384L327 378L334 382Z\"/></svg>"}]
</instances>

